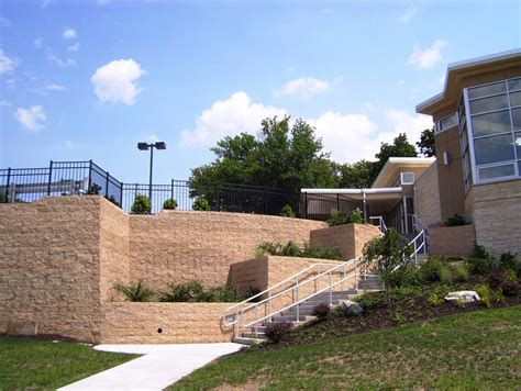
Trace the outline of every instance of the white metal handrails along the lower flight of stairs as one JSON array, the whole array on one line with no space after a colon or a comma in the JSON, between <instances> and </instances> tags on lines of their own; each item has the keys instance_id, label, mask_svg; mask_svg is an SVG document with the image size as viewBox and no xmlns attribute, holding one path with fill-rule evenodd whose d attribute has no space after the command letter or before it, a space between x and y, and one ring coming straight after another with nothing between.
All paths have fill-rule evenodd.
<instances>
[{"instance_id":1,"label":"white metal handrails along the lower flight of stairs","mask_svg":"<svg viewBox=\"0 0 521 391\"><path fill-rule=\"evenodd\" d=\"M307 284L307 283L309 283L309 282L312 282L312 281L318 281L318 279L320 279L321 277L324 277L324 276L328 276L328 275L329 275L329 276L330 276L330 282L329 282L329 286L328 286L326 288L320 290L319 292L323 292L323 291L325 291L325 290L328 290L328 289L332 289L332 287L334 287L334 286L337 284L337 283L334 283L334 284L332 283L332 281L331 281L332 273L333 273L334 271L336 271L337 269L343 268L343 269L344 269L343 272L344 272L344 276L345 276L345 268L346 268L347 266L351 266L351 265L354 266L354 270L355 270L355 272L353 273L353 276L355 277L355 288L356 288L356 286L357 286L357 279L356 279L356 277L358 276L358 273L357 273L357 271L356 271L356 270L357 270L357 267L356 267L356 266L357 266L357 264L356 264L357 260L358 260L358 258L354 258L354 259L351 259L351 260L348 260L348 261L345 261L345 262L343 262L343 264L341 264L341 265L336 265L336 266L334 266L333 268L331 268L331 269L329 269L329 270L326 270L326 271L324 271L324 272L321 272L321 273L314 276L314 277L311 278L311 279L304 280L303 282L300 282L300 281L297 280L297 282L296 282L295 286L289 287L288 289L286 289L286 290L284 290L284 291L281 291L281 292L276 293L275 295L270 295L269 298L264 299L264 300L260 301L260 302L253 303L252 305L250 305L250 306L247 306L247 308L245 308L245 309L243 309L243 310L237 310L237 311L235 312L235 314L224 315L224 316L223 316L223 324L224 324L225 326L230 326L230 325L233 325L233 324L237 324L237 323L239 323L239 327L242 328L242 327L247 327L247 326L250 326L250 325L252 325L252 324L262 322L262 321L257 320L257 321L255 321L255 322L253 322L253 323L248 323L247 325L242 325L240 321L242 321L242 317L243 317L244 313L250 312L250 311L252 311L252 310L255 310L255 311L257 312L260 305L263 305L263 304L266 305L266 303L270 302L271 300L274 300L274 299L276 299L276 298L278 298L278 297L282 295L282 294L287 294L287 293L289 293L289 292L292 292L292 291L295 291L295 290L297 290L297 302L301 302L301 300L299 300L299 289L300 289L300 287L302 287L302 286L304 286L304 284ZM345 279L346 279L346 278L344 277L341 281L345 281ZM289 280L290 280L290 279L289 279ZM315 284L315 286L317 286L317 284ZM312 297L312 295L311 295L311 297ZM310 298L310 297L309 297L309 298ZM308 298L308 299L309 299L309 298ZM330 301L331 301L331 294L330 294ZM236 305L235 305L235 306L236 306ZM265 306L265 308L266 308L266 306ZM269 316L265 316L265 317L263 317L263 320L265 320L265 319L267 319L267 317L270 317L270 316L273 316L274 314L280 313L281 311L285 311L285 310L282 309L282 310L277 310L277 311L275 311L275 312L271 312ZM297 309L297 312L298 312L298 309ZM233 322L226 323L226 321L225 321L226 316L231 316L231 315L235 315ZM236 329L236 331L237 331L237 329Z\"/></svg>"}]
</instances>

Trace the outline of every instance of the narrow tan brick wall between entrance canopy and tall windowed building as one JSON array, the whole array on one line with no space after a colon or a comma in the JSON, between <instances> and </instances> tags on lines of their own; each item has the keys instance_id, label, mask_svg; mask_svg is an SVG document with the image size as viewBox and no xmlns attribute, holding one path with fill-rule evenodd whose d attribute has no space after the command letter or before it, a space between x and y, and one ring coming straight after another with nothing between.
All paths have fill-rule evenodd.
<instances>
[{"instance_id":1,"label":"narrow tan brick wall between entrance canopy and tall windowed building","mask_svg":"<svg viewBox=\"0 0 521 391\"><path fill-rule=\"evenodd\" d=\"M432 164L414 183L417 215L426 226L440 224L440 190L437 188L437 165Z\"/></svg>"}]
</instances>

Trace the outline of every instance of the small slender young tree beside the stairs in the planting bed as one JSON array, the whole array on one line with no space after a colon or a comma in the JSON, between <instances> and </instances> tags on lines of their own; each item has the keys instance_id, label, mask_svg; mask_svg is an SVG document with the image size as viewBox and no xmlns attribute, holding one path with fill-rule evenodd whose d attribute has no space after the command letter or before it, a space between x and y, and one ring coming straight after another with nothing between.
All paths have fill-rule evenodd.
<instances>
[{"instance_id":1,"label":"small slender young tree beside the stairs in the planting bed","mask_svg":"<svg viewBox=\"0 0 521 391\"><path fill-rule=\"evenodd\" d=\"M393 228L389 228L385 235L374 238L364 246L363 266L366 268L376 266L378 277L386 288L389 309L392 308L390 297L392 273L409 262L411 253L407 238Z\"/></svg>"}]
</instances>

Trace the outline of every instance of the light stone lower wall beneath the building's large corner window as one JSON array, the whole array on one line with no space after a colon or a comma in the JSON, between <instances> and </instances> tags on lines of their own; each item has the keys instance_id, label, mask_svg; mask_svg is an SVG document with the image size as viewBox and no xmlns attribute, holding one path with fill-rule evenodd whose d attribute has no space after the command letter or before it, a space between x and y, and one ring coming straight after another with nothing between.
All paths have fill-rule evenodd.
<instances>
[{"instance_id":1,"label":"light stone lower wall beneath the building's large corner window","mask_svg":"<svg viewBox=\"0 0 521 391\"><path fill-rule=\"evenodd\" d=\"M496 256L521 254L521 180L474 186L470 197L476 242Z\"/></svg>"}]
</instances>

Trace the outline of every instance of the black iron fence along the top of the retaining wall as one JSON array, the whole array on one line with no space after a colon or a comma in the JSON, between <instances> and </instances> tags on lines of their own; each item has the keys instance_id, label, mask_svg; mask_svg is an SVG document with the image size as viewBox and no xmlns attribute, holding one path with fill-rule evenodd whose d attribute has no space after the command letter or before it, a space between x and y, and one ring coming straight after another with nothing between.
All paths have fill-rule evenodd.
<instances>
[{"instance_id":1,"label":"black iron fence along the top of the retaining wall","mask_svg":"<svg viewBox=\"0 0 521 391\"><path fill-rule=\"evenodd\" d=\"M151 212L163 209L168 199L178 210L192 210L197 198L208 201L210 210L277 215L289 204L298 213L298 193L236 183L190 186L187 180L168 185L123 183L92 161L51 161L45 168L0 169L0 202L32 202L43 197L99 194L132 211L136 196L152 193Z\"/></svg>"}]
</instances>

